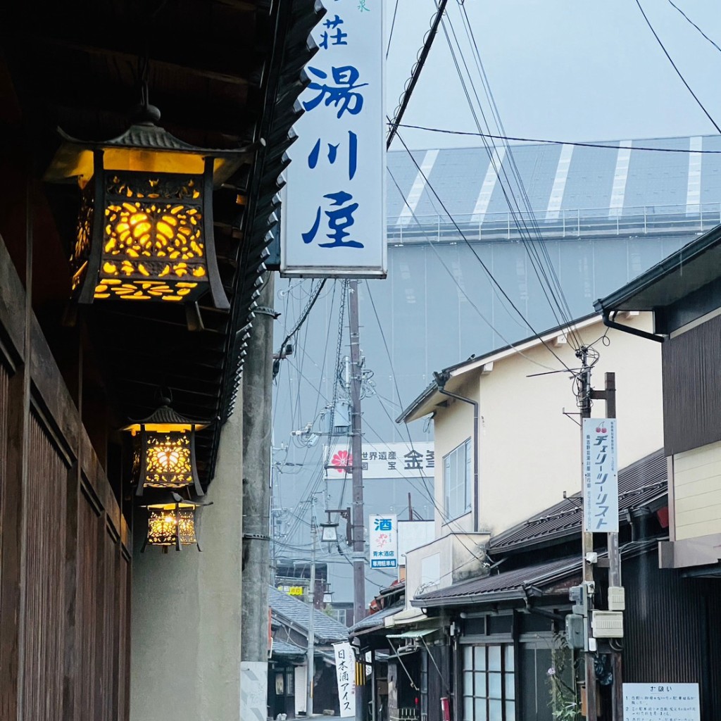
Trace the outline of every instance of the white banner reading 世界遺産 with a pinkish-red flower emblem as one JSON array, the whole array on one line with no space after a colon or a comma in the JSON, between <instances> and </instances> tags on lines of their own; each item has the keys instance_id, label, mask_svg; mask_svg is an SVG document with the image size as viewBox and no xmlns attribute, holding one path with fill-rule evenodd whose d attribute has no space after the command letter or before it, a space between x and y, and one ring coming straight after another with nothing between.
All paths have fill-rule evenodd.
<instances>
[{"instance_id":1,"label":"white banner reading \u4e16\u754c\u907a\u7523 with a pinkish-red flower emblem","mask_svg":"<svg viewBox=\"0 0 721 721\"><path fill-rule=\"evenodd\" d=\"M353 468L350 443L337 443L330 448L323 446L323 457L328 459L325 469L327 480L343 479ZM368 443L363 444L361 454L363 479L372 478L433 478L435 453L433 443Z\"/></svg>"}]
</instances>

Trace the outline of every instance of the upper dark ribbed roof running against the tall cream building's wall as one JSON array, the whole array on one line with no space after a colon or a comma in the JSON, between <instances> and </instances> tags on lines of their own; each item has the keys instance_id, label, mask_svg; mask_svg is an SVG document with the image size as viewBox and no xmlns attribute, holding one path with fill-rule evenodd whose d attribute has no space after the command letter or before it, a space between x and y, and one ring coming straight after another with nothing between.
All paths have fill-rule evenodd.
<instances>
[{"instance_id":1,"label":"upper dark ribbed roof running against the tall cream building's wall","mask_svg":"<svg viewBox=\"0 0 721 721\"><path fill-rule=\"evenodd\" d=\"M663 448L619 471L619 518L642 508L668 492ZM581 526L583 498L575 493L551 508L490 539L490 554L526 549L529 546L577 533Z\"/></svg>"}]
</instances>

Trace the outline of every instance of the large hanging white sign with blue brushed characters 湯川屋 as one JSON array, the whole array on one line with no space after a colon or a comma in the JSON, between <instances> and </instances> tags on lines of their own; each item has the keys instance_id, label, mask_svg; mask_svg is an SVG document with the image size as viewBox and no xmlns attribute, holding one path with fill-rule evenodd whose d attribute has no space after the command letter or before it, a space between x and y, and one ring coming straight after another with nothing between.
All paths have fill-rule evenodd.
<instances>
[{"instance_id":1,"label":"large hanging white sign with blue brushed characters \u6e6f\u5ddd\u5c4b","mask_svg":"<svg viewBox=\"0 0 721 721\"><path fill-rule=\"evenodd\" d=\"M381 0L323 0L293 125L281 218L283 275L386 275Z\"/></svg>"}]
</instances>

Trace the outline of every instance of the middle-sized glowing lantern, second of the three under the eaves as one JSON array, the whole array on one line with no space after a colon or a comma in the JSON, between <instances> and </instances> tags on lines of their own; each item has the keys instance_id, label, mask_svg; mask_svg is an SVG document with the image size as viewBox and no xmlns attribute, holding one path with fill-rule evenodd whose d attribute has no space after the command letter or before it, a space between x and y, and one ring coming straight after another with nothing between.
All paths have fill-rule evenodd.
<instances>
[{"instance_id":1,"label":"middle-sized glowing lantern, second of the three under the eaves","mask_svg":"<svg viewBox=\"0 0 721 721\"><path fill-rule=\"evenodd\" d=\"M123 428L137 437L133 459L136 495L143 495L146 488L178 490L193 486L195 495L202 496L195 468L195 431L207 428L208 423L176 413L167 398L162 402L152 415Z\"/></svg>"}]
</instances>

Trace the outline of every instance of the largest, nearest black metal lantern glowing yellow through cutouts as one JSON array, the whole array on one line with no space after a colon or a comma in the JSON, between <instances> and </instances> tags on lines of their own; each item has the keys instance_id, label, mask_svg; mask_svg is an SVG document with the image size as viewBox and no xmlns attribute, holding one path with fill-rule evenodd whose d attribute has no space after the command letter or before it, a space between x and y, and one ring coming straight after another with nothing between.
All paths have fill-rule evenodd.
<instances>
[{"instance_id":1,"label":"largest, nearest black metal lantern glowing yellow through cutouts","mask_svg":"<svg viewBox=\"0 0 721 721\"><path fill-rule=\"evenodd\" d=\"M247 149L211 150L175 138L146 107L140 122L112 140L63 143L48 182L77 180L81 204L72 297L94 300L197 301L229 309L213 244L213 186L227 180Z\"/></svg>"}]
</instances>

